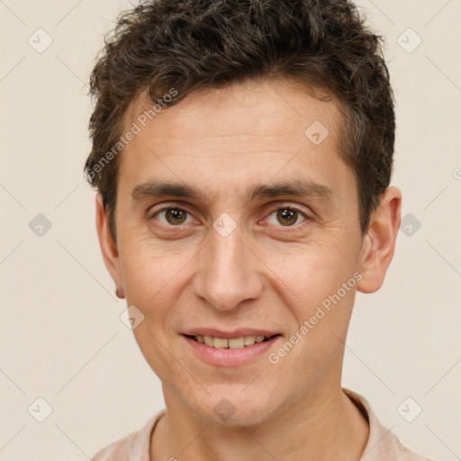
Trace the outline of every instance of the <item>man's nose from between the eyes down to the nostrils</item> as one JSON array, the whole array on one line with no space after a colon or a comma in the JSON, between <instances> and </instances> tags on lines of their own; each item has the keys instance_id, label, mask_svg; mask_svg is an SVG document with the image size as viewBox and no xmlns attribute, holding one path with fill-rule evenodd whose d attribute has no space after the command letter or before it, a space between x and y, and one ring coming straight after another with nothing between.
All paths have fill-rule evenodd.
<instances>
[{"instance_id":1,"label":"man's nose from between the eyes down to the nostrils","mask_svg":"<svg viewBox=\"0 0 461 461\"><path fill-rule=\"evenodd\" d=\"M231 311L262 292L260 261L241 239L239 227L223 237L212 229L199 253L194 294L220 311Z\"/></svg>"}]
</instances>

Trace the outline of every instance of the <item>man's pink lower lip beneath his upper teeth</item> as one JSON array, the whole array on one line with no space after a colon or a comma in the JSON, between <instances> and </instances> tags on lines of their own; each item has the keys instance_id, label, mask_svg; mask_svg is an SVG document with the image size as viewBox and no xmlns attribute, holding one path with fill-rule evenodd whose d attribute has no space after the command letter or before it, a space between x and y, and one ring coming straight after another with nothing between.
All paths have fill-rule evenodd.
<instances>
[{"instance_id":1,"label":"man's pink lower lip beneath his upper teeth","mask_svg":"<svg viewBox=\"0 0 461 461\"><path fill-rule=\"evenodd\" d=\"M244 348L230 349L230 348L212 348L206 346L201 342L188 338L183 335L187 344L194 349L195 354L205 362L214 366L241 366L257 359L258 357L268 354L268 350L274 346L281 336L274 336L267 341L256 342L251 346Z\"/></svg>"}]
</instances>

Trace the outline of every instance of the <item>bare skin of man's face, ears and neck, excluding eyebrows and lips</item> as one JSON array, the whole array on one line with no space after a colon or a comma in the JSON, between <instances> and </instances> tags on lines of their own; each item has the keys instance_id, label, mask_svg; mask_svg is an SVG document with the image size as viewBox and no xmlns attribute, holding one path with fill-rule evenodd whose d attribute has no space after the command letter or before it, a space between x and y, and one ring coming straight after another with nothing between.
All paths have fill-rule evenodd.
<instances>
[{"instance_id":1,"label":"bare skin of man's face, ears and neck, excluding eyebrows and lips","mask_svg":"<svg viewBox=\"0 0 461 461\"><path fill-rule=\"evenodd\" d=\"M144 95L131 104L127 130L147 107ZM96 196L104 263L118 294L145 316L133 333L163 386L167 414L153 432L151 460L361 456L368 425L341 390L344 341L356 288L373 293L384 282L401 193L389 187L382 194L362 235L356 181L339 157L338 109L334 99L321 102L290 81L196 90L123 149L116 241ZM330 131L318 146L304 135L314 121ZM252 185L293 179L331 194L243 196ZM133 188L156 180L194 185L206 200L133 198ZM156 214L165 206L187 213L168 221L166 212ZM287 206L300 212L294 223L277 218ZM212 227L223 212L237 224L227 237ZM282 337L274 352L357 273L357 286L276 365L263 354L243 366L212 366L180 334L275 330ZM223 398L235 409L227 421L213 411Z\"/></svg>"}]
</instances>

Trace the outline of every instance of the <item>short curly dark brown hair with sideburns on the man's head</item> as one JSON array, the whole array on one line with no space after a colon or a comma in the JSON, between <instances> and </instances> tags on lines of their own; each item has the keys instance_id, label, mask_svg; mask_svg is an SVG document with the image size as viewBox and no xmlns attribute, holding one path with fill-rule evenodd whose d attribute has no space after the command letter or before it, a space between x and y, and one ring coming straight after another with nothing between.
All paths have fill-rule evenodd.
<instances>
[{"instance_id":1,"label":"short curly dark brown hair with sideburns on the man's head","mask_svg":"<svg viewBox=\"0 0 461 461\"><path fill-rule=\"evenodd\" d=\"M85 173L103 196L113 237L117 154L128 105L145 90L156 102L175 88L169 104L177 104L197 88L256 77L295 78L337 98L340 155L357 178L360 227L366 231L391 179L395 117L382 39L367 29L355 5L147 0L120 14L104 43L90 77L95 111Z\"/></svg>"}]
</instances>

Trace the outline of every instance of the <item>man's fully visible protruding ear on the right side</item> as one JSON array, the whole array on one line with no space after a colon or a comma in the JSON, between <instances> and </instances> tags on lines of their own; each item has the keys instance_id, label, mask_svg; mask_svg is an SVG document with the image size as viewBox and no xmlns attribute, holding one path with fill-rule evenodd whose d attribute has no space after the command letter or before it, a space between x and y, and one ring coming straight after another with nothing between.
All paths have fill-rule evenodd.
<instances>
[{"instance_id":1,"label":"man's fully visible protruding ear on the right side","mask_svg":"<svg viewBox=\"0 0 461 461\"><path fill-rule=\"evenodd\" d=\"M388 187L379 206L370 215L370 222L361 250L362 279L357 290L374 293L384 283L387 267L393 259L395 240L401 219L402 194L397 187Z\"/></svg>"}]
</instances>

